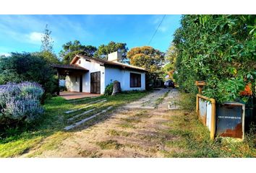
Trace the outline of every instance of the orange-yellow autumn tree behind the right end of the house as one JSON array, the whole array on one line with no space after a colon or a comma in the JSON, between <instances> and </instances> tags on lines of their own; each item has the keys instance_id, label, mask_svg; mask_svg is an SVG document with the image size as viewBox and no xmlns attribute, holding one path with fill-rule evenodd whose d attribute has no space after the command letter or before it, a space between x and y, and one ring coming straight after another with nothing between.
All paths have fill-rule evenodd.
<instances>
[{"instance_id":1,"label":"orange-yellow autumn tree behind the right end of the house","mask_svg":"<svg viewBox=\"0 0 256 173\"><path fill-rule=\"evenodd\" d=\"M146 74L146 86L160 76L164 61L164 53L160 50L150 46L132 48L127 53L127 58L129 58L133 66L139 66L148 71Z\"/></svg>"}]
</instances>

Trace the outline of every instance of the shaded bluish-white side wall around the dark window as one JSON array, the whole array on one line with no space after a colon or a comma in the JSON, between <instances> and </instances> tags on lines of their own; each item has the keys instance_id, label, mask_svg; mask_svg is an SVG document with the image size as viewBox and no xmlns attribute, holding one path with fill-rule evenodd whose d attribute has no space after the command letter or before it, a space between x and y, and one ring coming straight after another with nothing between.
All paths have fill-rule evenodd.
<instances>
[{"instance_id":1,"label":"shaded bluish-white side wall around the dark window","mask_svg":"<svg viewBox=\"0 0 256 173\"><path fill-rule=\"evenodd\" d=\"M141 87L130 87L130 73L141 74ZM116 80L120 82L122 91L145 90L145 73L143 72L106 67L105 76L105 87Z\"/></svg>"}]
</instances>

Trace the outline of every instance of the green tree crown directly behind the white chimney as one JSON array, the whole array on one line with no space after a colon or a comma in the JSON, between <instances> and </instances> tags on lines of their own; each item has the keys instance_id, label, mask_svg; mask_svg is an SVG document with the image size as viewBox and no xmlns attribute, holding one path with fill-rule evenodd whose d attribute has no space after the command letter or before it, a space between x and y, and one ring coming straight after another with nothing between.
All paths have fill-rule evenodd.
<instances>
[{"instance_id":1,"label":"green tree crown directly behind the white chimney","mask_svg":"<svg viewBox=\"0 0 256 173\"><path fill-rule=\"evenodd\" d=\"M108 45L100 45L98 47L98 50L95 52L96 58L103 58L106 59L108 56L108 53L113 53L119 51L122 54L121 62L127 63L127 43L115 43L114 41L111 41L108 43Z\"/></svg>"}]
</instances>

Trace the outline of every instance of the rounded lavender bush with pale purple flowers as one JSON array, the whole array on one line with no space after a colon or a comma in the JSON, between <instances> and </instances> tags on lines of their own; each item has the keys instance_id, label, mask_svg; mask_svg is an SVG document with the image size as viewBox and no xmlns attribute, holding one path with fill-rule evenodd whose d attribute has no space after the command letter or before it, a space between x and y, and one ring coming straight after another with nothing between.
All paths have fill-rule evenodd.
<instances>
[{"instance_id":1,"label":"rounded lavender bush with pale purple flowers","mask_svg":"<svg viewBox=\"0 0 256 173\"><path fill-rule=\"evenodd\" d=\"M43 92L42 86L28 81L0 85L0 125L19 121L31 123L40 117Z\"/></svg>"}]
</instances>

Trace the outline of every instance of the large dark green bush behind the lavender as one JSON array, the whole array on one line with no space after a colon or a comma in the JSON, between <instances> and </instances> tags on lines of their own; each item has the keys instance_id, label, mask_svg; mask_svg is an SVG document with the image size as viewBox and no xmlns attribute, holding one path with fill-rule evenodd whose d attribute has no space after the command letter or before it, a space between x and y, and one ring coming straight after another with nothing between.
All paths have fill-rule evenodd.
<instances>
[{"instance_id":1,"label":"large dark green bush behind the lavender","mask_svg":"<svg viewBox=\"0 0 256 173\"><path fill-rule=\"evenodd\" d=\"M54 69L40 56L30 53L12 53L0 58L0 84L8 82L35 81L43 86L43 98L56 92L57 80Z\"/></svg>"}]
</instances>

